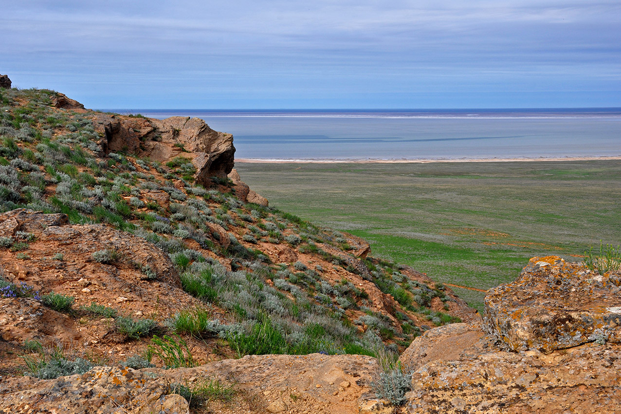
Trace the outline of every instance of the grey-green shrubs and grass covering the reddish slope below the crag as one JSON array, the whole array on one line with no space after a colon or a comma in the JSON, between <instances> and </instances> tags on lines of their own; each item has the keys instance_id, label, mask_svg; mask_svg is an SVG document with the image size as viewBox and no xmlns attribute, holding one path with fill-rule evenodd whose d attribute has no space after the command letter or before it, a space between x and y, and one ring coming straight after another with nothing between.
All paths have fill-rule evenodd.
<instances>
[{"instance_id":1,"label":"grey-green shrubs and grass covering the reddish slope below the crag","mask_svg":"<svg viewBox=\"0 0 621 414\"><path fill-rule=\"evenodd\" d=\"M163 165L106 154L94 113L55 108L55 94L0 90L1 211L63 213L71 223L132 232L168 253L185 292L204 303L160 321L128 320L107 308L109 303L93 303L74 317L105 313L124 340L144 341L145 347L149 339L139 338L167 330L188 339L217 337L237 356L374 355L384 347L404 349L431 326L459 321L449 311L462 305L445 287L386 260L358 259L347 234L242 203L230 180L214 178L210 188L195 185L194 166L183 157ZM153 191L166 193L168 201L150 198ZM32 242L19 234L0 246L14 252L15 260L27 260ZM279 260L273 246L287 247L298 260ZM53 259L61 262L63 254ZM89 260L133 265L143 280L158 280L153 269L122 251L97 251ZM16 282L0 278L0 287ZM361 282L383 294L369 298ZM73 298L55 301L66 311ZM212 318L214 313L222 317Z\"/></svg>"}]
</instances>

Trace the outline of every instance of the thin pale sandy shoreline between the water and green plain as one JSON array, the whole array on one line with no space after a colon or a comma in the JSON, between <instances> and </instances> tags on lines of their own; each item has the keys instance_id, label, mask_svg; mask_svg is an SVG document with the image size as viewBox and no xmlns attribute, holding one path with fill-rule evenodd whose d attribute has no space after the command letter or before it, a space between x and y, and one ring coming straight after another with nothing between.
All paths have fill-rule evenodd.
<instances>
[{"instance_id":1,"label":"thin pale sandy shoreline between the water and green plain","mask_svg":"<svg viewBox=\"0 0 621 414\"><path fill-rule=\"evenodd\" d=\"M545 161L593 161L593 160L621 160L621 155L610 157L538 157L538 158L480 158L480 159L398 159L398 160L361 160L361 159L258 159L242 158L235 162L248 163L432 163L432 162L545 162Z\"/></svg>"}]
</instances>

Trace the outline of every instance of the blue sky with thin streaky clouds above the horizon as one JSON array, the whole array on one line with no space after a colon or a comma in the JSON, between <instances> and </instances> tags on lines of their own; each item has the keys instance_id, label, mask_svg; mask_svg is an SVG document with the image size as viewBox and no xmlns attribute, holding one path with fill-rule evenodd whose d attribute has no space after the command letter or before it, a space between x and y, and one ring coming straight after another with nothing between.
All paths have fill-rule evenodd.
<instances>
[{"instance_id":1,"label":"blue sky with thin streaky clouds above the horizon","mask_svg":"<svg viewBox=\"0 0 621 414\"><path fill-rule=\"evenodd\" d=\"M621 107L619 0L0 4L0 73L93 109Z\"/></svg>"}]
</instances>

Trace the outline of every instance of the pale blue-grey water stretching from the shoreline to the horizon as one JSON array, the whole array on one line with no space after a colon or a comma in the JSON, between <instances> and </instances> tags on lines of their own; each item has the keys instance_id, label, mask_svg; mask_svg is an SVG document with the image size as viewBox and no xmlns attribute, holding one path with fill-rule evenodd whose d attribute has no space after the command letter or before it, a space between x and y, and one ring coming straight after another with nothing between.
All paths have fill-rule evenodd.
<instances>
[{"instance_id":1,"label":"pale blue-grey water stretching from the shoreline to the horizon","mask_svg":"<svg viewBox=\"0 0 621 414\"><path fill-rule=\"evenodd\" d=\"M212 129L233 134L237 159L450 160L621 155L621 108L130 112L158 118L200 117Z\"/></svg>"}]
</instances>

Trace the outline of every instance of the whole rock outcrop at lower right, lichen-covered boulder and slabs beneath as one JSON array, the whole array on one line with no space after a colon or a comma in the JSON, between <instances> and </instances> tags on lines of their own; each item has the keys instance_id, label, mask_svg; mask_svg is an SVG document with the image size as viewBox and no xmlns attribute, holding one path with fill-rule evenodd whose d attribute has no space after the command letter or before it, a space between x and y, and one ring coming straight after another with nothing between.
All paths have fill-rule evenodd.
<instances>
[{"instance_id":1,"label":"whole rock outcrop at lower right, lichen-covered boulder and slabs beneath","mask_svg":"<svg viewBox=\"0 0 621 414\"><path fill-rule=\"evenodd\" d=\"M402 354L406 412L621 413L619 277L533 258L487 294L484 329L431 329Z\"/></svg>"}]
</instances>

